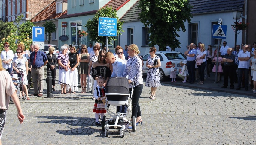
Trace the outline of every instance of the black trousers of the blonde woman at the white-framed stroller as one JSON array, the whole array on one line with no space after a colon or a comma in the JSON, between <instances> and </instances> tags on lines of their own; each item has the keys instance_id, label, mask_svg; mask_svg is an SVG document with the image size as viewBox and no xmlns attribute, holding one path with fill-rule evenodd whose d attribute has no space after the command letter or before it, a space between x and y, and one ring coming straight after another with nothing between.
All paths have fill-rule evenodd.
<instances>
[{"instance_id":1,"label":"black trousers of the blonde woman at the white-framed stroller","mask_svg":"<svg viewBox=\"0 0 256 145\"><path fill-rule=\"evenodd\" d=\"M141 116L140 106L139 106L139 97L141 95L142 89L143 89L143 84L139 84L139 85L135 86L134 89L133 89L132 117L133 116L135 116L135 117ZM131 94L132 88L130 88L129 91L130 91L130 94Z\"/></svg>"}]
</instances>

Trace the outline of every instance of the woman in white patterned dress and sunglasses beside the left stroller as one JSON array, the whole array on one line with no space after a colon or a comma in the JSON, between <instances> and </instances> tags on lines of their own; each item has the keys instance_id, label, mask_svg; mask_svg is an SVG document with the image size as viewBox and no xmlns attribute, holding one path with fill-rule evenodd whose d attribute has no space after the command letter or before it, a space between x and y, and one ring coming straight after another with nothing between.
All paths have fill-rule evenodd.
<instances>
[{"instance_id":1,"label":"woman in white patterned dress and sunglasses beside the left stroller","mask_svg":"<svg viewBox=\"0 0 256 145\"><path fill-rule=\"evenodd\" d=\"M12 68L17 73L19 73L20 71L23 72L23 91L26 93L27 100L30 100L28 95L28 88L26 86L28 84L27 75L29 71L29 66L28 66L29 63L28 63L28 59L26 59L26 57L23 57L21 55L22 52L23 51L20 48L16 50L17 57L13 59Z\"/></svg>"}]
</instances>

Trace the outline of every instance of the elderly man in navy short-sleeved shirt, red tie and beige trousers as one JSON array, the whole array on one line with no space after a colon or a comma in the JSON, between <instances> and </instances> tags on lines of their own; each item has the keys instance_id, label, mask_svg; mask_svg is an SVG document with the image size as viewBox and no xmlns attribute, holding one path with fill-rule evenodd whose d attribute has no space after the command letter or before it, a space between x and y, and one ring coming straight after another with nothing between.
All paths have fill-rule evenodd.
<instances>
[{"instance_id":1,"label":"elderly man in navy short-sleeved shirt, red tie and beige trousers","mask_svg":"<svg viewBox=\"0 0 256 145\"><path fill-rule=\"evenodd\" d=\"M31 76L32 76L32 81L39 81L39 92L38 92L38 87L37 87L37 82L33 83L34 86L34 94L31 96L43 96L43 90L44 90L44 65L47 64L48 60L46 55L44 54L43 51L39 51L39 45L34 44L34 51L30 54L30 62L31 62Z\"/></svg>"}]
</instances>

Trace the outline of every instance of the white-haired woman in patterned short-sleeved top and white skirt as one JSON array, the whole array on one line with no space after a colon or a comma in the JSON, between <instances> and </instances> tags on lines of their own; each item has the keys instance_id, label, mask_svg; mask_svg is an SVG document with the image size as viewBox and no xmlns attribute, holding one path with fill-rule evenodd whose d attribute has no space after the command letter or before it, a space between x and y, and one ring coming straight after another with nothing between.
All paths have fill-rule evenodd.
<instances>
[{"instance_id":1,"label":"white-haired woman in patterned short-sleeved top and white skirt","mask_svg":"<svg viewBox=\"0 0 256 145\"><path fill-rule=\"evenodd\" d=\"M67 94L66 88L67 85L69 84L69 55L66 54L68 51L68 47L63 45L60 47L60 51L62 53L59 53L58 55L58 64L59 64L59 81L62 83L60 84L61 87L61 93L60 94ZM63 89L63 83L64 84L64 89Z\"/></svg>"}]
</instances>

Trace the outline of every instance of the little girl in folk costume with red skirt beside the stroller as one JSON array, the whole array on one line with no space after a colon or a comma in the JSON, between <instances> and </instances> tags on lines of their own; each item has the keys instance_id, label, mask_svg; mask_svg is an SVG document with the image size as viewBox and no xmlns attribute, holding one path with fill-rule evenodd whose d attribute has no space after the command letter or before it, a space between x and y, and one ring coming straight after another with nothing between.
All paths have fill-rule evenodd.
<instances>
[{"instance_id":1,"label":"little girl in folk costume with red skirt beside the stroller","mask_svg":"<svg viewBox=\"0 0 256 145\"><path fill-rule=\"evenodd\" d=\"M98 82L98 85L94 89L94 98L96 100L93 106L93 112L95 112L95 119L96 119L95 125L100 126L101 123L98 120L99 114L102 118L104 116L104 113L107 112L105 110L105 103L102 102L102 100L106 98L105 88L103 87L103 83L105 82L105 79L102 76L99 76L97 82Z\"/></svg>"}]
</instances>

